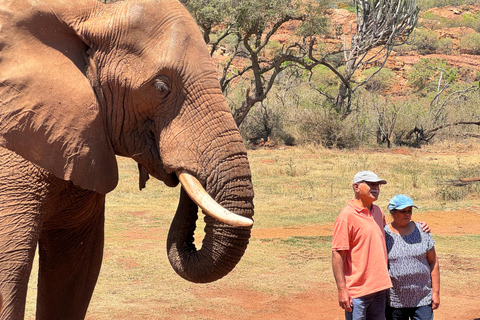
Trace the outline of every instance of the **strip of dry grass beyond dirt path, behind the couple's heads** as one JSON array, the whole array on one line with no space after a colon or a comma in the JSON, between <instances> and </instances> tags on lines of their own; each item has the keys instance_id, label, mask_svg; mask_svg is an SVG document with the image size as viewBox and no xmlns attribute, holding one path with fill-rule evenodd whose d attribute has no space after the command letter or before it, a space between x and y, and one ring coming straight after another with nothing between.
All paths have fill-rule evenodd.
<instances>
[{"instance_id":1,"label":"strip of dry grass beyond dirt path, behind the couple's heads","mask_svg":"<svg viewBox=\"0 0 480 320\"><path fill-rule=\"evenodd\" d=\"M425 153L392 154L372 151L330 151L314 148L255 150L250 152L255 185L256 227L291 227L333 222L352 197L351 180L360 170L372 170L388 180L378 204L386 208L395 194L404 193L422 210L457 209L473 205L477 197L463 201L441 198L444 182L470 172L459 172L456 155ZM476 155L460 159L464 165ZM288 174L294 167L297 174ZM477 174L471 172L472 176ZM479 174L480 175L480 174ZM447 188L453 190L454 188ZM453 192L453 191L452 191ZM474 194L475 195L475 194ZM467 196L467 195L465 195Z\"/></svg>"}]
</instances>

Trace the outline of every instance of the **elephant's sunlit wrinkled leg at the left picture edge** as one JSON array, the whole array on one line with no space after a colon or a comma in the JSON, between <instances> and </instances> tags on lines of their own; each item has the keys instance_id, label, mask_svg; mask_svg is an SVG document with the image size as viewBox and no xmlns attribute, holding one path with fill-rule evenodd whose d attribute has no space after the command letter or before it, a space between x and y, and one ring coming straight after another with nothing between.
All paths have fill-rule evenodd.
<instances>
[{"instance_id":1,"label":"elephant's sunlit wrinkled leg at the left picture edge","mask_svg":"<svg viewBox=\"0 0 480 320\"><path fill-rule=\"evenodd\" d=\"M23 319L46 197L44 173L0 148L0 292L2 320Z\"/></svg>"}]
</instances>

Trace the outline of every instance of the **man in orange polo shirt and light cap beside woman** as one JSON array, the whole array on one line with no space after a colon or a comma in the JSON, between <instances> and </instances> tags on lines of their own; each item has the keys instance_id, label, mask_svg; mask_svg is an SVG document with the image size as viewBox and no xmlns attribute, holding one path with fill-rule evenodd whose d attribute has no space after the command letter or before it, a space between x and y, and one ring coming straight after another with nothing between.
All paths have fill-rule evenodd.
<instances>
[{"instance_id":1,"label":"man in orange polo shirt and light cap beside woman","mask_svg":"<svg viewBox=\"0 0 480 320\"><path fill-rule=\"evenodd\" d=\"M332 267L338 302L346 320L384 320L386 290L392 286L387 268L383 226L385 214L373 204L387 181L371 171L353 178L355 198L335 220Z\"/></svg>"}]
</instances>

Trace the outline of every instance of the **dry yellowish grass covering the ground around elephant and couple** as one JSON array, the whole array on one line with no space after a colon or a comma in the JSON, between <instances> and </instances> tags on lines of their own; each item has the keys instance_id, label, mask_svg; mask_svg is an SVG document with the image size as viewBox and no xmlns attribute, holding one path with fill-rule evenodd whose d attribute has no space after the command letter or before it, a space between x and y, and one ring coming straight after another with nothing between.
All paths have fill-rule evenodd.
<instances>
[{"instance_id":1,"label":"dry yellowish grass covering the ground around elephant and couple","mask_svg":"<svg viewBox=\"0 0 480 320\"><path fill-rule=\"evenodd\" d=\"M473 145L440 151L315 147L252 150L254 229L331 225L352 197L351 179L360 170L373 170L388 180L378 200L382 208L397 193L414 199L420 217L431 210L448 212L478 206L476 189L470 189L458 201L440 197L445 180L459 178L466 167L470 171L465 172L475 173L478 151ZM255 299L257 294L280 299L306 292L312 284L334 291L328 234L253 237L240 264L224 279L206 285L180 279L169 266L165 249L178 188L169 189L150 180L145 190L138 191L135 164L128 159L119 159L119 164L119 186L107 197L104 263L87 319L164 319L161 314L170 319L218 319L222 315L255 319L258 310L215 293L242 290L248 293L245 299L249 295ZM202 231L198 233L201 239ZM475 257L474 263L479 265L479 234L435 238L446 265L442 268L443 275L448 275L443 278L445 285L458 285L462 290L469 275L478 273L478 267L469 262ZM32 278L35 276L34 271ZM477 282L474 284L480 287ZM34 285L32 279L26 319L34 318ZM222 313L216 316L202 313L218 310L219 306Z\"/></svg>"}]
</instances>

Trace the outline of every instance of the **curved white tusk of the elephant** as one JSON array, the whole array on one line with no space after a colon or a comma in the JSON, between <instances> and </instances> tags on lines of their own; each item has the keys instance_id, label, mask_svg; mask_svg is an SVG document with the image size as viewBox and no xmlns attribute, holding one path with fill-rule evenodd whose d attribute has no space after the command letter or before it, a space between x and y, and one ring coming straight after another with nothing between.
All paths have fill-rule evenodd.
<instances>
[{"instance_id":1,"label":"curved white tusk of the elephant","mask_svg":"<svg viewBox=\"0 0 480 320\"><path fill-rule=\"evenodd\" d=\"M176 173L178 180L180 180L180 183L187 194L203 210L203 212L217 219L218 221L232 226L249 227L253 225L252 219L235 214L218 204L207 193L207 191L205 191L197 178L185 171L177 171Z\"/></svg>"}]
</instances>

